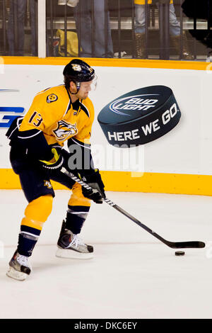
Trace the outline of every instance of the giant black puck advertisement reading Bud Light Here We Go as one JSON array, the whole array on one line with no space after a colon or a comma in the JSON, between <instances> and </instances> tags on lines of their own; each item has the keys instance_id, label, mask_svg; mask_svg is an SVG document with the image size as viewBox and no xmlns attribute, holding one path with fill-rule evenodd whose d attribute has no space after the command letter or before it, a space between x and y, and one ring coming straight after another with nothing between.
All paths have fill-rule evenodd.
<instances>
[{"instance_id":1,"label":"giant black puck advertisement reading Bud Light Here We Go","mask_svg":"<svg viewBox=\"0 0 212 333\"><path fill-rule=\"evenodd\" d=\"M144 145L179 123L181 113L167 86L148 86L120 96L102 108L98 122L110 145Z\"/></svg>"}]
</instances>

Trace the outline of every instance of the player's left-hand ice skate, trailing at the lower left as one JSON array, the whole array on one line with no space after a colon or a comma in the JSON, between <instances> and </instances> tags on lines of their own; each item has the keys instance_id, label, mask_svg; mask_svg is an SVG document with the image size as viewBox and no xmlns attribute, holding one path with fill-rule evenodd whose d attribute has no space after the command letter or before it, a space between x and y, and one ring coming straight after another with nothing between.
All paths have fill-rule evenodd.
<instances>
[{"instance_id":1,"label":"player's left-hand ice skate, trailing at the lower left","mask_svg":"<svg viewBox=\"0 0 212 333\"><path fill-rule=\"evenodd\" d=\"M22 256L16 252L13 254L11 261L9 262L9 269L6 275L10 278L15 278L19 281L24 281L28 275L30 275L32 268L28 262L28 256Z\"/></svg>"}]
</instances>

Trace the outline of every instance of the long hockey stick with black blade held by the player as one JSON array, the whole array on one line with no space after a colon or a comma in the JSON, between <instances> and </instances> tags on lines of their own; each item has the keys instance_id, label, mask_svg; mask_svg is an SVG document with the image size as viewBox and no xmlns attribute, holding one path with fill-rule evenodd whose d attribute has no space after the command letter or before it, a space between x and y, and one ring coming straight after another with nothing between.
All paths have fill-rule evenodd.
<instances>
[{"instance_id":1,"label":"long hockey stick with black blade held by the player","mask_svg":"<svg viewBox=\"0 0 212 333\"><path fill-rule=\"evenodd\" d=\"M88 184L84 183L84 181L81 181L81 179L79 179L76 176L74 176L74 174L72 174L70 171L67 171L65 168L62 168L61 172L63 172L64 174L66 174L67 176L69 176L71 179L73 179L73 181L76 181L77 183L81 184L81 186L87 188L88 190L93 190L92 187L90 187ZM168 247L171 247L172 249L185 249L185 248L196 249L196 248L203 248L203 247L206 246L206 244L204 242L199 242L199 241L170 242L170 241L164 239L163 237L161 237L160 235L158 235L156 232L154 232L153 230L151 230L146 225L143 225L143 223L141 223L139 220L137 220L136 218L134 218L134 216L130 215L124 209L122 209L121 207L119 207L118 205L116 205L115 203L113 203L112 201L110 201L110 199L107 199L107 198L104 199L103 198L103 200L105 201L105 203L107 203L108 205L112 206L112 208L118 210L120 213L122 213L123 215L125 215L126 218L129 218L131 221L133 221L134 223L136 223L136 225L139 225L139 227L142 227L144 230L146 230L147 232L149 232L151 235L153 235L154 237L158 238L160 240L160 242L163 242L164 244L166 244Z\"/></svg>"}]
</instances>

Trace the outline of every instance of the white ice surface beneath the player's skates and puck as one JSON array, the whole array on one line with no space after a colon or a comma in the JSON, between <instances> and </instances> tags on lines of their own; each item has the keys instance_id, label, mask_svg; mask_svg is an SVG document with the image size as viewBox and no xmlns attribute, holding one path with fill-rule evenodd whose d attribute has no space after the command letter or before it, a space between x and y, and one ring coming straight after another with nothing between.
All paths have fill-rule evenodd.
<instances>
[{"instance_id":1,"label":"white ice surface beneath the player's skates and puck","mask_svg":"<svg viewBox=\"0 0 212 333\"><path fill-rule=\"evenodd\" d=\"M212 198L107 192L114 203L170 241L210 242L170 249L106 203L93 204L82 238L90 260L55 256L69 191L56 191L52 215L26 281L6 276L27 204L22 191L0 191L1 318L212 318ZM3 247L4 245L4 247Z\"/></svg>"}]
</instances>

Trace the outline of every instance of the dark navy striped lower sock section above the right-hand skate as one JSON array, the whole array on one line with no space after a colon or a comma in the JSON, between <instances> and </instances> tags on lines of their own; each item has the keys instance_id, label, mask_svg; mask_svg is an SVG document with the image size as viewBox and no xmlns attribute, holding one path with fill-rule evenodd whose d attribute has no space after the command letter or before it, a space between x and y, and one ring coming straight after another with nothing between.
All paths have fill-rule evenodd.
<instances>
[{"instance_id":1,"label":"dark navy striped lower sock section above the right-hand skate","mask_svg":"<svg viewBox=\"0 0 212 333\"><path fill-rule=\"evenodd\" d=\"M66 229L71 230L71 232L75 235L79 234L83 227L83 223L88 216L89 210L89 206L69 205L69 209L66 214Z\"/></svg>"}]
</instances>

